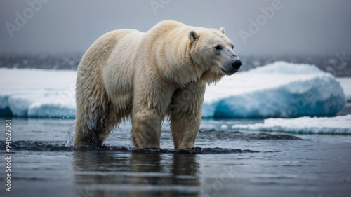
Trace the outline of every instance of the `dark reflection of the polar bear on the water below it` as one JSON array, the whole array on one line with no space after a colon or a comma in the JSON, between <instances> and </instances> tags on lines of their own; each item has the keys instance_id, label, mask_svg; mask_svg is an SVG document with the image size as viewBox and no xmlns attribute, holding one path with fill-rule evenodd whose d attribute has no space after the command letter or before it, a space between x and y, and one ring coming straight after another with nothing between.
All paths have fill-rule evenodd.
<instances>
[{"instance_id":1,"label":"dark reflection of the polar bear on the water below it","mask_svg":"<svg viewBox=\"0 0 351 197\"><path fill-rule=\"evenodd\" d=\"M194 154L76 151L77 196L200 196Z\"/></svg>"}]
</instances>

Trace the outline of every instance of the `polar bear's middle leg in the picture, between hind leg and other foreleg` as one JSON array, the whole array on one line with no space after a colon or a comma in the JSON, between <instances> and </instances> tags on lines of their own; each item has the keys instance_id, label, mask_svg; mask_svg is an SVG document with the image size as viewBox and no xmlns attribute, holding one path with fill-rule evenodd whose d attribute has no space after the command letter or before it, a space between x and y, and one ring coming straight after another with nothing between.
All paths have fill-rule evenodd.
<instances>
[{"instance_id":1,"label":"polar bear's middle leg in the picture, between hind leg and other foreleg","mask_svg":"<svg viewBox=\"0 0 351 197\"><path fill-rule=\"evenodd\" d=\"M135 80L132 130L133 145L137 149L160 148L161 122L167 114L174 86L161 79ZM158 80L158 81L157 81Z\"/></svg>"}]
</instances>

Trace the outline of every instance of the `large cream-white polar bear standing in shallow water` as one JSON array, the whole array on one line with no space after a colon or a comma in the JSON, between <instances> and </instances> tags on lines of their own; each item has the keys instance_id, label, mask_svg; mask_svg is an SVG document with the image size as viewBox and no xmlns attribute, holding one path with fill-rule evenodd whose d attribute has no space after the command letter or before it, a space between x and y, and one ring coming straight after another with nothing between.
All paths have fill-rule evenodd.
<instances>
[{"instance_id":1,"label":"large cream-white polar bear standing in shallow water","mask_svg":"<svg viewBox=\"0 0 351 197\"><path fill-rule=\"evenodd\" d=\"M168 118L175 149L192 149L206 83L240 67L223 28L165 20L145 33L107 32L79 63L74 146L100 147L131 118L135 148L159 149L161 122Z\"/></svg>"}]
</instances>

